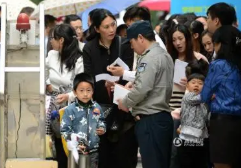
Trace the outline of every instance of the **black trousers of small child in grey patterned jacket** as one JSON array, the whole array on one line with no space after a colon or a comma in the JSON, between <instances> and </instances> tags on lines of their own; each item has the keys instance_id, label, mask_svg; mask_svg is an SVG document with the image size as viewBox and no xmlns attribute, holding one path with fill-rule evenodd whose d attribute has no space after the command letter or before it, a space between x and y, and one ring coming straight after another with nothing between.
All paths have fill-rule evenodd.
<instances>
[{"instance_id":1,"label":"black trousers of small child in grey patterned jacket","mask_svg":"<svg viewBox=\"0 0 241 168\"><path fill-rule=\"evenodd\" d=\"M209 144L190 143L182 140L182 145L177 147L177 156L180 168L208 168L209 167Z\"/></svg>"}]
</instances>

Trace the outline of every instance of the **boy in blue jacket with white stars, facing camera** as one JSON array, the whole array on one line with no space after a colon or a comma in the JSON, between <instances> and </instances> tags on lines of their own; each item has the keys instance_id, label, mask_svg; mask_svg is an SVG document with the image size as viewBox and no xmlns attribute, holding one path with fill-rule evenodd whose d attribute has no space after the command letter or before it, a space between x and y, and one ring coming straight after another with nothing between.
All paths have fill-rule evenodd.
<instances>
[{"instance_id":1,"label":"boy in blue jacket with white stars, facing camera","mask_svg":"<svg viewBox=\"0 0 241 168\"><path fill-rule=\"evenodd\" d=\"M77 134L80 154L90 155L91 168L98 166L99 136L106 130L104 116L99 104L92 101L94 80L86 74L75 76L73 91L76 102L66 109L61 121L61 135L66 141Z\"/></svg>"}]
</instances>

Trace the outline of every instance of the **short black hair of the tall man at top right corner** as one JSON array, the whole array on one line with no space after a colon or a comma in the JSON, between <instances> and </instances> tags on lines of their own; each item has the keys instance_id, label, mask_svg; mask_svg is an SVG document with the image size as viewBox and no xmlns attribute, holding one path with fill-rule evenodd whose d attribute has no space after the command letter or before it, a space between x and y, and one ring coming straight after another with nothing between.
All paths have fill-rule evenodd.
<instances>
[{"instance_id":1,"label":"short black hair of the tall man at top right corner","mask_svg":"<svg viewBox=\"0 0 241 168\"><path fill-rule=\"evenodd\" d=\"M224 2L210 6L207 10L208 14L211 16L211 19L218 18L221 25L232 25L237 20L234 7Z\"/></svg>"}]
</instances>

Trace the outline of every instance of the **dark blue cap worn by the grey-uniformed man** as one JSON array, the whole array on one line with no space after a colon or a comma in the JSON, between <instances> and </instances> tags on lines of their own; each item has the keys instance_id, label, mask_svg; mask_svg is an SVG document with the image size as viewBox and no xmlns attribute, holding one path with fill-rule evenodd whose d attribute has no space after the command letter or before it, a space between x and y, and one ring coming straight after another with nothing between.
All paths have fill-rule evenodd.
<instances>
[{"instance_id":1,"label":"dark blue cap worn by the grey-uniformed man","mask_svg":"<svg viewBox=\"0 0 241 168\"><path fill-rule=\"evenodd\" d=\"M129 42L133 38L137 38L139 34L154 33L151 23L149 21L136 21L130 27L127 28L127 38L123 43Z\"/></svg>"}]
</instances>

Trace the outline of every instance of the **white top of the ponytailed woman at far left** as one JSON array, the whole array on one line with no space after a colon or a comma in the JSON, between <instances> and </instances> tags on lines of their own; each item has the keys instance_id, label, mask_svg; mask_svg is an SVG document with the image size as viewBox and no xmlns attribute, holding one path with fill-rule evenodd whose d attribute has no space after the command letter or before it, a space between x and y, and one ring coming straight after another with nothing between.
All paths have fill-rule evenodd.
<instances>
[{"instance_id":1,"label":"white top of the ponytailed woman at far left","mask_svg":"<svg viewBox=\"0 0 241 168\"><path fill-rule=\"evenodd\" d=\"M52 85L53 91L59 91L60 86L69 86L73 83L75 74L84 72L83 57L77 59L75 69L68 71L66 66L63 67L63 72L60 72L59 52L51 50L46 58L46 84ZM75 96L73 92L69 94L69 101L73 101Z\"/></svg>"}]
</instances>

